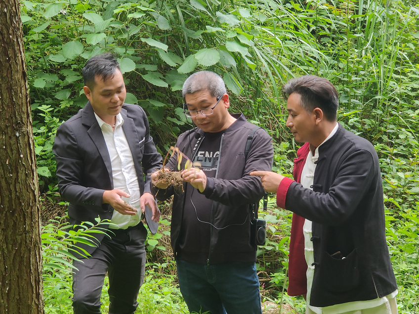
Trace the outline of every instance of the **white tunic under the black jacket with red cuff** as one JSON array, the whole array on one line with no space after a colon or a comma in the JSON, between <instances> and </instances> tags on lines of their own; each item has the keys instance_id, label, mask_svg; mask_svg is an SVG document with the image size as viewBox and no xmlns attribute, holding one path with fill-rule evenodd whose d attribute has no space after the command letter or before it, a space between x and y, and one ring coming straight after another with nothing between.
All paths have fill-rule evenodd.
<instances>
[{"instance_id":1,"label":"white tunic under the black jacket with red cuff","mask_svg":"<svg viewBox=\"0 0 419 314\"><path fill-rule=\"evenodd\" d=\"M339 124L336 123L335 128L332 130L331 134L319 145L323 145L329 138L335 135ZM302 169L301 173L301 184L305 188L311 188L310 186L314 182L314 171L316 170L315 162L319 158L319 147L316 148L313 153L311 150L308 152L307 159L304 164L304 168ZM312 189L312 188L311 188ZM310 305L310 294L311 294L311 286L313 283L313 276L314 276L314 266L311 264L314 263L314 253L313 253L313 242L310 241L311 239L311 221L305 220L304 226L304 256L305 261L307 262L307 307L316 314L339 314L351 311L359 311L363 309L374 308L380 306L386 302L388 302L389 298L394 298L397 295L397 290L391 293L388 296L377 298L375 300L369 301L355 301L355 302L348 302L342 304L336 304L330 307L324 308L317 308Z\"/></svg>"}]
</instances>

